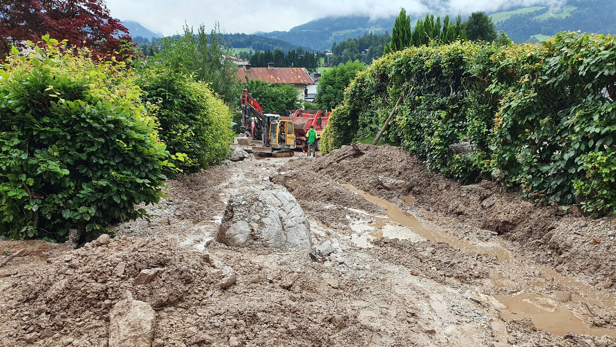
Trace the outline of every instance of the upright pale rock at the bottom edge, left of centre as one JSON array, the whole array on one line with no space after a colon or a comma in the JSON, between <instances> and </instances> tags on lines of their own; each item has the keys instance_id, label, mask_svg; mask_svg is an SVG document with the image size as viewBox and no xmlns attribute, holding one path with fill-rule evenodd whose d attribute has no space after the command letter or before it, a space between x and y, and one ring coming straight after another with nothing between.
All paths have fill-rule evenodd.
<instances>
[{"instance_id":1,"label":"upright pale rock at the bottom edge, left of centre","mask_svg":"<svg viewBox=\"0 0 616 347\"><path fill-rule=\"evenodd\" d=\"M109 347L150 347L156 315L143 301L118 301L109 312Z\"/></svg>"}]
</instances>

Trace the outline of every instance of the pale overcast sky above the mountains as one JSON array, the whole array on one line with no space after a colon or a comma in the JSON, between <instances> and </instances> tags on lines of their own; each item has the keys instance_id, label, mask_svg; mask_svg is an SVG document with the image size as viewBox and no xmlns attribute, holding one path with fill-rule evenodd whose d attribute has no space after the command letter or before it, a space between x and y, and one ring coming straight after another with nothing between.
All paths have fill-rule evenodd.
<instances>
[{"instance_id":1,"label":"pale overcast sky above the mountains","mask_svg":"<svg viewBox=\"0 0 616 347\"><path fill-rule=\"evenodd\" d=\"M498 12L512 6L553 4L559 0L107 0L111 15L135 20L144 27L173 35L182 30L184 21L197 27L221 23L227 33L286 31L310 20L328 15L370 15L386 17L405 7L410 14L428 10L457 14L458 10Z\"/></svg>"}]
</instances>

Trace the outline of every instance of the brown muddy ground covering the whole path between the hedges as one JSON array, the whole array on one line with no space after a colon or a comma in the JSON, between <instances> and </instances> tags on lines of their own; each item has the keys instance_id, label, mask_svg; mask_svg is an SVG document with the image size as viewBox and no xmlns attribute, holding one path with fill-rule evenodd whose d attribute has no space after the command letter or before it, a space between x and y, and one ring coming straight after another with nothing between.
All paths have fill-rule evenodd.
<instances>
[{"instance_id":1,"label":"brown muddy ground covering the whole path between the hedges","mask_svg":"<svg viewBox=\"0 0 616 347\"><path fill-rule=\"evenodd\" d=\"M460 186L396 147L360 149L182 176L150 221L109 242L1 241L26 255L0 269L0 346L109 346L110 311L128 296L155 311L155 347L616 346L612 219ZM214 240L229 195L270 181L331 255ZM152 282L136 280L144 269Z\"/></svg>"}]
</instances>

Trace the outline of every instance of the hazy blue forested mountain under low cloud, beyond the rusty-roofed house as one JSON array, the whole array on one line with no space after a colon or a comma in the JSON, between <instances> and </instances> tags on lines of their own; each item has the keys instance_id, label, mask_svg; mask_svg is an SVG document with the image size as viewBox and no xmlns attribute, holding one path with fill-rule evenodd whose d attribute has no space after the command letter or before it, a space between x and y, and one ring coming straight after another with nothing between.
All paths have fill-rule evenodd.
<instances>
[{"instance_id":1,"label":"hazy blue forested mountain under low cloud, beyond the rusty-roofed house","mask_svg":"<svg viewBox=\"0 0 616 347\"><path fill-rule=\"evenodd\" d=\"M331 49L331 44L347 38L359 38L372 31L375 35L384 34L394 27L394 17L375 18L359 15L325 17L298 25L289 31L257 32L265 38L280 39L295 46L312 47L317 51Z\"/></svg>"}]
</instances>

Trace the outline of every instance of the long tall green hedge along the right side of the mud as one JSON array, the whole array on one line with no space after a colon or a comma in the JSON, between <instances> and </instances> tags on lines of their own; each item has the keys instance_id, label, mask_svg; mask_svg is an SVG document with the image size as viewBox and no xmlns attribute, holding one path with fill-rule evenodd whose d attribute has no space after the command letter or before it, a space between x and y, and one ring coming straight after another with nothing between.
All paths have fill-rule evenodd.
<instances>
[{"instance_id":1,"label":"long tall green hedge along the right side of the mud","mask_svg":"<svg viewBox=\"0 0 616 347\"><path fill-rule=\"evenodd\" d=\"M345 91L322 135L324 152L377 133L466 179L492 174L526 197L614 213L616 46L611 36L559 33L543 44L452 43L376 60ZM609 94L606 97L604 94ZM470 141L476 152L450 145Z\"/></svg>"}]
</instances>

